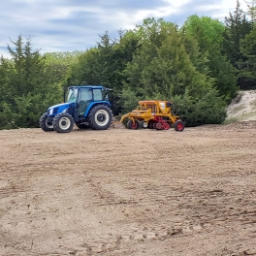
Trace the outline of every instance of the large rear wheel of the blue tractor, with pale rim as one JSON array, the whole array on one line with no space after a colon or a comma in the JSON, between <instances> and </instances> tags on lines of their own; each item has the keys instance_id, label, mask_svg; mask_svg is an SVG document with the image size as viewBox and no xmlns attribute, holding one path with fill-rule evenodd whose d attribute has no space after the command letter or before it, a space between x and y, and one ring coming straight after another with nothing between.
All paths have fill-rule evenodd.
<instances>
[{"instance_id":1,"label":"large rear wheel of the blue tractor, with pale rim","mask_svg":"<svg viewBox=\"0 0 256 256\"><path fill-rule=\"evenodd\" d=\"M112 125L112 110L105 105L97 105L89 112L88 122L94 130L108 130Z\"/></svg>"}]
</instances>

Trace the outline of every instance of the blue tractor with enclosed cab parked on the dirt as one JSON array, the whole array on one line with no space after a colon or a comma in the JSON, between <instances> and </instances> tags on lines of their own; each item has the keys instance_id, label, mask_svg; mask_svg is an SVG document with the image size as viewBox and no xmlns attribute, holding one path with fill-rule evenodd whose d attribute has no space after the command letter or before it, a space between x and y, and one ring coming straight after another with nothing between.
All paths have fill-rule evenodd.
<instances>
[{"instance_id":1,"label":"blue tractor with enclosed cab parked on the dirt","mask_svg":"<svg viewBox=\"0 0 256 256\"><path fill-rule=\"evenodd\" d=\"M45 132L58 133L71 132L74 123L80 129L109 129L112 124L110 90L102 85L69 87L67 98L64 93L65 103L48 108L40 118L40 127Z\"/></svg>"}]
</instances>

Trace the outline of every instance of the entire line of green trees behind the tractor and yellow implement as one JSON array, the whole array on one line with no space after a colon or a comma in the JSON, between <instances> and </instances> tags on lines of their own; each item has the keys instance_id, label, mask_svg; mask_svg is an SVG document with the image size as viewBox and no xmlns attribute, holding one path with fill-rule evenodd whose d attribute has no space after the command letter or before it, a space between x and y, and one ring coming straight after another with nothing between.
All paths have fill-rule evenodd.
<instances>
[{"instance_id":1,"label":"entire line of green trees behind the tractor and yellow implement","mask_svg":"<svg viewBox=\"0 0 256 256\"><path fill-rule=\"evenodd\" d=\"M0 59L0 129L38 127L39 117L70 85L112 88L115 115L140 100L171 100L187 126L222 123L239 89L256 89L255 3L237 2L225 22L189 16L181 27L163 18L106 32L84 51L33 50L21 35Z\"/></svg>"}]
</instances>

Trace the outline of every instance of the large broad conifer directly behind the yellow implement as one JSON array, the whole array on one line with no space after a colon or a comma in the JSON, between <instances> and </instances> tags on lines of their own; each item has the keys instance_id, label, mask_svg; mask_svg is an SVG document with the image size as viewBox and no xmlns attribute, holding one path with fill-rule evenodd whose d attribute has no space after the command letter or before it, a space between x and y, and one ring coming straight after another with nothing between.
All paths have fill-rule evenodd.
<instances>
[{"instance_id":1,"label":"large broad conifer directly behind the yellow implement","mask_svg":"<svg viewBox=\"0 0 256 256\"><path fill-rule=\"evenodd\" d=\"M146 26L143 35L156 38L161 34L162 23ZM154 21L159 22L159 21ZM169 24L168 33L161 41L142 40L140 51L127 64L127 80L120 103L130 112L139 100L173 100L174 110L188 126L203 123L221 123L225 118L225 101L213 88L214 80L208 77L208 59L201 54L197 42L187 33L179 33ZM141 29L139 29L141 31ZM197 61L199 60L199 61ZM195 64L196 65L195 65Z\"/></svg>"}]
</instances>

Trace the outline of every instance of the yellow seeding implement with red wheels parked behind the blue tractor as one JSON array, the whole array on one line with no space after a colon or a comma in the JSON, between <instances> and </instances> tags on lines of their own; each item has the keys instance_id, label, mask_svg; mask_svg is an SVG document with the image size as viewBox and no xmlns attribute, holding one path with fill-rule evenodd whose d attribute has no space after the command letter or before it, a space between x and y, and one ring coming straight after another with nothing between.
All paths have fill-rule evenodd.
<instances>
[{"instance_id":1,"label":"yellow seeding implement with red wheels parked behind the blue tractor","mask_svg":"<svg viewBox=\"0 0 256 256\"><path fill-rule=\"evenodd\" d=\"M127 129L149 128L157 130L169 130L172 126L182 132L184 122L172 111L170 101L140 101L139 107L133 112L122 115L120 122L126 122Z\"/></svg>"}]
</instances>

